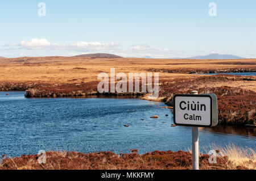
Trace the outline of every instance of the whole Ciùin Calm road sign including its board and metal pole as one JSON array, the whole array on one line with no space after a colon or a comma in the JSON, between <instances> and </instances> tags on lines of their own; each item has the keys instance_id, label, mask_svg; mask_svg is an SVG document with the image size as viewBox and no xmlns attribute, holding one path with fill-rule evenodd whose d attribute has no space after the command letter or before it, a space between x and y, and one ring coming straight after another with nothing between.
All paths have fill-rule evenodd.
<instances>
[{"instance_id":1,"label":"whole Ci\u00f9in Calm road sign including its board and metal pole","mask_svg":"<svg viewBox=\"0 0 256 181\"><path fill-rule=\"evenodd\" d=\"M192 127L192 169L199 170L199 127L218 124L215 94L177 94L174 96L174 124Z\"/></svg>"}]
</instances>

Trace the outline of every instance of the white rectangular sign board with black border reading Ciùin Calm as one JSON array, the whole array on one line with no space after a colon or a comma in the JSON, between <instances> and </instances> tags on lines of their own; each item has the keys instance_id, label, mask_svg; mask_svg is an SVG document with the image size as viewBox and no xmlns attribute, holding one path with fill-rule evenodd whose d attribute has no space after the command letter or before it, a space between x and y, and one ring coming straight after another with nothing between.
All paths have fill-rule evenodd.
<instances>
[{"instance_id":1,"label":"white rectangular sign board with black border reading Ci\u00f9in Calm","mask_svg":"<svg viewBox=\"0 0 256 181\"><path fill-rule=\"evenodd\" d=\"M216 100L217 101L217 100ZM211 95L175 95L174 124L189 127L212 127L213 98Z\"/></svg>"}]
</instances>

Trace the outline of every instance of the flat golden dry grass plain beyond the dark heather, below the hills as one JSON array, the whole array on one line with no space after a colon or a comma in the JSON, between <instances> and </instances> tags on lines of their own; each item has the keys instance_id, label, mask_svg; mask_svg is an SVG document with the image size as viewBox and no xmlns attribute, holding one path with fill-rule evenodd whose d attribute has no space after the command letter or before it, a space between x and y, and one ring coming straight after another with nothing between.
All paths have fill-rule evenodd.
<instances>
[{"instance_id":1,"label":"flat golden dry grass plain beyond the dark heather, below the hills","mask_svg":"<svg viewBox=\"0 0 256 181\"><path fill-rule=\"evenodd\" d=\"M100 72L148 72L156 69L159 79L171 81L175 78L195 79L205 75L167 73L166 70L226 70L256 69L256 59L244 60L170 60L147 58L89 58L89 57L20 57L1 58L0 81L7 82L50 82L80 83L97 81ZM241 86L256 91L250 81L236 81L233 84L214 83L213 86Z\"/></svg>"}]
</instances>

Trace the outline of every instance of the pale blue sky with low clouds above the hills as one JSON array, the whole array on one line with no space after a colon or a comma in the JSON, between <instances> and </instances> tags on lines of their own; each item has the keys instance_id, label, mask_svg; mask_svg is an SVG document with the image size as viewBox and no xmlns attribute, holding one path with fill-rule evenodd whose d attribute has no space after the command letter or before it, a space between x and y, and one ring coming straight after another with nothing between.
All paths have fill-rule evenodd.
<instances>
[{"instance_id":1,"label":"pale blue sky with low clouds above the hills","mask_svg":"<svg viewBox=\"0 0 256 181\"><path fill-rule=\"evenodd\" d=\"M39 16L38 4L46 4ZM209 16L209 3L217 16ZM256 58L256 1L1 1L0 56Z\"/></svg>"}]
</instances>

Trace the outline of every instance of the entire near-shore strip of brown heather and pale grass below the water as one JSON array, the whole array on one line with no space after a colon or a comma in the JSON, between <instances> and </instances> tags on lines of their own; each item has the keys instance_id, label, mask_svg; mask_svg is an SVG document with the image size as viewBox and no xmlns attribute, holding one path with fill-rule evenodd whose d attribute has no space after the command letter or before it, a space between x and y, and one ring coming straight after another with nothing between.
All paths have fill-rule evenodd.
<instances>
[{"instance_id":1,"label":"entire near-shore strip of brown heather and pale grass below the water","mask_svg":"<svg viewBox=\"0 0 256 181\"><path fill-rule=\"evenodd\" d=\"M200 169L227 170L227 169L256 169L256 154L253 149L244 149L229 145L216 149L217 163L209 163L210 155L200 154ZM46 163L40 164L40 155L22 155L15 158L3 158L0 169L15 170L61 170L61 169L191 169L191 151L152 151L138 154L138 150L130 150L130 154L114 154L111 151L98 153L79 153L75 151L48 151Z\"/></svg>"}]
</instances>

